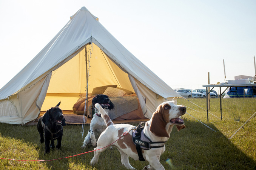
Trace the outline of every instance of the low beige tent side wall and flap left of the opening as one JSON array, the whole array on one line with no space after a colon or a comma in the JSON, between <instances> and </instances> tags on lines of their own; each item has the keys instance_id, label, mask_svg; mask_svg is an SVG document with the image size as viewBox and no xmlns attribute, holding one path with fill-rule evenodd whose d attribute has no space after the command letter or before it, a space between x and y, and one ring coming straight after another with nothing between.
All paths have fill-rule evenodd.
<instances>
[{"instance_id":1,"label":"low beige tent side wall and flap left of the opening","mask_svg":"<svg viewBox=\"0 0 256 170\"><path fill-rule=\"evenodd\" d=\"M45 99L51 73L38 77L35 83L19 93L0 101L0 122L25 124L39 116L40 107Z\"/></svg>"}]
</instances>

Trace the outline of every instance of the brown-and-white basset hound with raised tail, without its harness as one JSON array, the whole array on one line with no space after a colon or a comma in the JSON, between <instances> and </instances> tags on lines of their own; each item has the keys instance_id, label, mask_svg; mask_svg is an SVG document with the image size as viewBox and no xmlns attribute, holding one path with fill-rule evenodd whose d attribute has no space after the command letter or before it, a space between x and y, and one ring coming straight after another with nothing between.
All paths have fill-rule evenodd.
<instances>
[{"instance_id":1,"label":"brown-and-white basset hound with raised tail, without its harness","mask_svg":"<svg viewBox=\"0 0 256 170\"><path fill-rule=\"evenodd\" d=\"M109 118L108 114L104 109L99 105L95 104L95 108L102 114L102 117L106 123L106 130L102 132L98 139L97 147L94 149L94 157L91 160L90 164L94 165L98 162L99 155L101 152L105 151L109 144L113 143L124 134L128 132L127 135L124 135L122 138L117 140L117 142L111 144L110 146L116 146L121 154L121 162L128 169L135 169L129 163L128 157L130 156L134 160L139 160L139 156L136 150L136 144L133 143L132 131L131 129L134 126L130 124L114 124ZM162 164L160 164L160 156L165 151L165 143L168 138L170 138L170 133L173 129L173 126L176 125L178 131L185 128L184 121L179 118L181 115L186 113L186 107L182 105L175 105L174 102L163 102L160 104L156 111L153 113L153 116L143 129L144 134L150 138L154 143L154 147L148 150L142 150L142 155L145 161L148 161L150 164L145 166L143 170L164 170ZM156 146L161 146L157 147ZM108 147L105 147L108 146ZM105 147L105 148L103 148ZM103 148L103 149L100 149ZM100 150L97 150L100 149Z\"/></svg>"}]
</instances>

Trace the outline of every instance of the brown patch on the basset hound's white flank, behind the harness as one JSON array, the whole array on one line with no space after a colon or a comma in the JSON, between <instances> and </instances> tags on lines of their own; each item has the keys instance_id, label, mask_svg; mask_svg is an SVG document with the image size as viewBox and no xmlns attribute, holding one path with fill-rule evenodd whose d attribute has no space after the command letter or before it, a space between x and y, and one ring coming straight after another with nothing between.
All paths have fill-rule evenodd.
<instances>
[{"instance_id":1,"label":"brown patch on the basset hound's white flank, behind the harness","mask_svg":"<svg viewBox=\"0 0 256 170\"><path fill-rule=\"evenodd\" d=\"M119 129L118 137L123 135L123 133L124 133L124 128ZM126 149L127 148L126 146L128 146L131 149L131 151L133 151L134 153L137 153L136 145L133 143L133 136L131 134L124 135L122 138L120 138L117 141L117 144L122 149Z\"/></svg>"}]
</instances>

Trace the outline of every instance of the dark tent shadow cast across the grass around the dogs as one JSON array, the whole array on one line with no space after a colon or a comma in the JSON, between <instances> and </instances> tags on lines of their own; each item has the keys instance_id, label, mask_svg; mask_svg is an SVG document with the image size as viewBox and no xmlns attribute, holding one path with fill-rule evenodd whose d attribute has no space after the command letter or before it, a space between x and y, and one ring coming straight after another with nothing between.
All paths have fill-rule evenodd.
<instances>
[{"instance_id":1,"label":"dark tent shadow cast across the grass around the dogs","mask_svg":"<svg viewBox=\"0 0 256 170\"><path fill-rule=\"evenodd\" d=\"M180 132L177 132L176 127L173 128L171 137L165 145L165 152L160 158L160 162L165 169L256 169L256 161L245 155L221 132L213 132L203 124L195 121L185 120L185 124L186 128ZM216 127L211 127L217 130ZM36 126L17 126L0 123L2 137L22 140L23 143L34 146L37 153L39 153L37 159L42 160L62 158L93 150L93 146L85 149L81 148L84 139L81 137L81 129L82 126L65 126L61 150L51 150L49 154L45 155L44 144L39 142L40 137ZM84 137L87 135L88 129L89 126L86 126ZM89 165L89 161L93 158L93 155L94 153L86 153L72 158L43 162L43 164L45 164L46 169L52 170L124 169L117 149L108 149L103 152L100 155L98 164L92 168ZM167 159L170 159L169 164L165 162ZM130 159L130 164L136 169L142 169L148 163Z\"/></svg>"}]
</instances>

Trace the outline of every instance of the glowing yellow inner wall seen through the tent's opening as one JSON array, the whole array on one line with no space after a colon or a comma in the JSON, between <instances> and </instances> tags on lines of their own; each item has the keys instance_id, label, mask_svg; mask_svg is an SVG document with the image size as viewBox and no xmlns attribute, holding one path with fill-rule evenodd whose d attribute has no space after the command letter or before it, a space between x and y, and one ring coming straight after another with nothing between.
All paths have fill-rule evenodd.
<instances>
[{"instance_id":1,"label":"glowing yellow inner wall seen through the tent's opening","mask_svg":"<svg viewBox=\"0 0 256 170\"><path fill-rule=\"evenodd\" d=\"M134 91L128 74L111 61L99 47L92 44L85 48L57 70L52 71L41 111L46 111L59 101L61 101L63 110L72 110L74 103L80 98L79 95L86 93L86 58L88 61L90 58L90 63L88 62L88 68L90 64L89 93L93 91L93 88L103 85L117 85ZM87 51L87 55L85 55L85 51Z\"/></svg>"}]
</instances>

